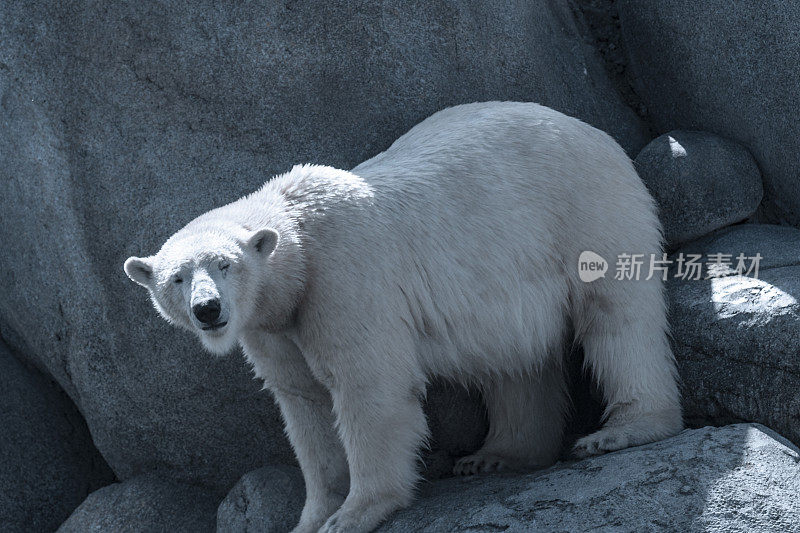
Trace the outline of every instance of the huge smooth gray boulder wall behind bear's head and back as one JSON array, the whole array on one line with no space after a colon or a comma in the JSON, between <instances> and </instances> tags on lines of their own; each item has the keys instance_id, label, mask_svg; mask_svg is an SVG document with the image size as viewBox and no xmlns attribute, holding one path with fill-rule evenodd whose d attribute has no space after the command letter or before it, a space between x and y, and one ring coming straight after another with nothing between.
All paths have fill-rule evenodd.
<instances>
[{"instance_id":1,"label":"huge smooth gray boulder wall behind bear's head and back","mask_svg":"<svg viewBox=\"0 0 800 533\"><path fill-rule=\"evenodd\" d=\"M242 358L210 357L161 320L123 261L294 163L352 167L453 104L539 101L635 154L641 124L576 12L552 0L0 3L8 342L79 405L120 479L157 471L221 492L291 462Z\"/></svg>"}]
</instances>

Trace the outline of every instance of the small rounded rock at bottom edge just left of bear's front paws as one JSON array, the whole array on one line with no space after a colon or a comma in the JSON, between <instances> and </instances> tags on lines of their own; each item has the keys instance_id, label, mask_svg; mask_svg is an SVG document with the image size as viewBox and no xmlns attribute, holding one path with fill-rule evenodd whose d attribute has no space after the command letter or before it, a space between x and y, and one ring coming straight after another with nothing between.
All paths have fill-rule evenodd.
<instances>
[{"instance_id":1,"label":"small rounded rock at bottom edge just left of bear's front paws","mask_svg":"<svg viewBox=\"0 0 800 533\"><path fill-rule=\"evenodd\" d=\"M248 472L217 510L217 533L282 533L300 520L306 491L303 473L293 466L266 466Z\"/></svg>"}]
</instances>

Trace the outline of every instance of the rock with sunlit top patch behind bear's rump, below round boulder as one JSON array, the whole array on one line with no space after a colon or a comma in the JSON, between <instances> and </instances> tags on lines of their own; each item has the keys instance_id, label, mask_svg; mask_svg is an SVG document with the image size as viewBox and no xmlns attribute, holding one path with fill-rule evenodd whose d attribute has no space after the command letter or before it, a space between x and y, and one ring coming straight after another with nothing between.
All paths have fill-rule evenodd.
<instances>
[{"instance_id":1,"label":"rock with sunlit top patch behind bear's rump, below round boulder","mask_svg":"<svg viewBox=\"0 0 800 533\"><path fill-rule=\"evenodd\" d=\"M687 421L757 421L800 443L800 230L744 224L677 253L725 254L734 269L739 254L762 256L757 279L671 276L667 284Z\"/></svg>"}]
</instances>

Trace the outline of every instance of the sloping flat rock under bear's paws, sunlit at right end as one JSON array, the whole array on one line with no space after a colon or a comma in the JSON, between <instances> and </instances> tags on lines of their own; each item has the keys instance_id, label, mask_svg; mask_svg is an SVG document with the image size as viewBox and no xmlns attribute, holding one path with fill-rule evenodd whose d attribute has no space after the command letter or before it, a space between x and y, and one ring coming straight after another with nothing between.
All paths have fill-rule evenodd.
<instances>
[{"instance_id":1,"label":"sloping flat rock under bear's paws, sunlit at right end","mask_svg":"<svg viewBox=\"0 0 800 533\"><path fill-rule=\"evenodd\" d=\"M798 462L763 426L686 430L540 473L439 481L379 531L790 531Z\"/></svg>"}]
</instances>

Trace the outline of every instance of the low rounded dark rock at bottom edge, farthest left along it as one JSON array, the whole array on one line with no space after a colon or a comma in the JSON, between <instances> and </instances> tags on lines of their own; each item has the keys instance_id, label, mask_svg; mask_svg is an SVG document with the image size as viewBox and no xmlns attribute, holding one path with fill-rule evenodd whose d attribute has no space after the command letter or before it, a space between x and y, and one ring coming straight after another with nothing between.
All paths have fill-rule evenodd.
<instances>
[{"instance_id":1,"label":"low rounded dark rock at bottom edge, farthest left along it","mask_svg":"<svg viewBox=\"0 0 800 533\"><path fill-rule=\"evenodd\" d=\"M58 532L213 532L218 503L201 488L148 474L93 492Z\"/></svg>"}]
</instances>

